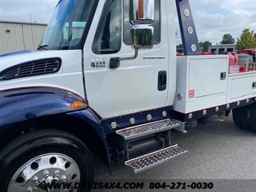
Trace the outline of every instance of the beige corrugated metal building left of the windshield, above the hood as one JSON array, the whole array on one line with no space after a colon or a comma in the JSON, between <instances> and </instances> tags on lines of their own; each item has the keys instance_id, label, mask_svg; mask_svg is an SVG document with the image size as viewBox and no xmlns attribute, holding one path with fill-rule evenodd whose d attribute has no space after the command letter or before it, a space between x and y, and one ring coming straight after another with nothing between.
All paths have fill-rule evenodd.
<instances>
[{"instance_id":1,"label":"beige corrugated metal building left of the windshield, above the hood","mask_svg":"<svg viewBox=\"0 0 256 192\"><path fill-rule=\"evenodd\" d=\"M28 49L35 51L46 24L0 21L0 54Z\"/></svg>"}]
</instances>

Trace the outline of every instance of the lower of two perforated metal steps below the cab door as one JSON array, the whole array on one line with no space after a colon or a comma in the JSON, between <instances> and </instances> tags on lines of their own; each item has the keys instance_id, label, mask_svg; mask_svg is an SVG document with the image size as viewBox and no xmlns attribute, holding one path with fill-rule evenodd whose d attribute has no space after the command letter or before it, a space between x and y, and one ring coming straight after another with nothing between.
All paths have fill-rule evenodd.
<instances>
[{"instance_id":1,"label":"lower of two perforated metal steps below the cab door","mask_svg":"<svg viewBox=\"0 0 256 192\"><path fill-rule=\"evenodd\" d=\"M140 173L186 152L188 150L180 148L178 145L173 145L172 147L126 161L125 165L132 168L134 173Z\"/></svg>"}]
</instances>

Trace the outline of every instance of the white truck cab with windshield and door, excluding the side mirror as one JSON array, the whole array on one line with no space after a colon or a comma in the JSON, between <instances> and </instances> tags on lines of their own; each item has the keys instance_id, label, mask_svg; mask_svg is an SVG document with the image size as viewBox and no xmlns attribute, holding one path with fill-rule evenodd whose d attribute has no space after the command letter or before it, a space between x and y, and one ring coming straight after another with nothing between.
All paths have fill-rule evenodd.
<instances>
[{"instance_id":1,"label":"white truck cab with windshield and door, excluding the side mirror","mask_svg":"<svg viewBox=\"0 0 256 192\"><path fill-rule=\"evenodd\" d=\"M77 4L81 11L77 10ZM162 11L165 7L172 10L172 3L154 1L154 5L154 47L141 49L136 59L120 61L116 68L110 67L111 58L134 56L129 1L85 1L83 4L63 1L47 28L42 45L48 46L44 49L76 52L76 63L83 67L79 72L84 74L86 99L102 118L173 105L176 83L174 18L170 16L172 11ZM58 10L65 16L60 16ZM168 40L163 40L166 36ZM71 65L70 70L74 70ZM73 90L84 95L81 83L80 79Z\"/></svg>"}]
</instances>

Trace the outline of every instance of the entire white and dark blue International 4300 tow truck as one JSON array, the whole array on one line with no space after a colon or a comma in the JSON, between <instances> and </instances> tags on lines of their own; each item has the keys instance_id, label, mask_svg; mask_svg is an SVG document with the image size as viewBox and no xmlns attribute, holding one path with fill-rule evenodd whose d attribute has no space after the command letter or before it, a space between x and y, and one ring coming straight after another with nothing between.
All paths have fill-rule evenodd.
<instances>
[{"instance_id":1,"label":"entire white and dark blue International 4300 tow truck","mask_svg":"<svg viewBox=\"0 0 256 192\"><path fill-rule=\"evenodd\" d=\"M202 56L188 0L176 5L184 56L169 0L62 0L38 51L0 55L1 191L92 182L92 152L139 173L188 152L172 130L231 110L256 131L256 71Z\"/></svg>"}]
</instances>

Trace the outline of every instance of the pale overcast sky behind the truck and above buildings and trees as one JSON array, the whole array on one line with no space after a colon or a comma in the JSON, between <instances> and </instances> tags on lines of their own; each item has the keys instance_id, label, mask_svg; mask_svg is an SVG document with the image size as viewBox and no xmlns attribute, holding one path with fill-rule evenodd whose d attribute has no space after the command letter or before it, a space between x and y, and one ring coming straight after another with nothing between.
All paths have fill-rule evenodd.
<instances>
[{"instance_id":1,"label":"pale overcast sky behind the truck and above buildings and trees","mask_svg":"<svg viewBox=\"0 0 256 192\"><path fill-rule=\"evenodd\" d=\"M48 23L57 3L58 0L0 0L0 20L30 22L31 12L33 22ZM237 37L244 28L256 31L256 0L190 0L190 3L199 41L216 44L225 33Z\"/></svg>"}]
</instances>

